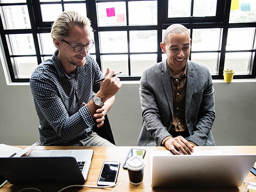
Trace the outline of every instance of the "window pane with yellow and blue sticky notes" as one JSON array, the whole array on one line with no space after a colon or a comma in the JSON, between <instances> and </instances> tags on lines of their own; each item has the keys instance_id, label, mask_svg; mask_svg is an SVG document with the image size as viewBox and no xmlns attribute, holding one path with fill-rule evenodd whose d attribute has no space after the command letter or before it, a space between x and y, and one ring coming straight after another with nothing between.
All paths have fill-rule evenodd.
<instances>
[{"instance_id":1,"label":"window pane with yellow and blue sticky notes","mask_svg":"<svg viewBox=\"0 0 256 192\"><path fill-rule=\"evenodd\" d=\"M231 1L229 23L255 22L256 21L256 1L239 0Z\"/></svg>"}]
</instances>

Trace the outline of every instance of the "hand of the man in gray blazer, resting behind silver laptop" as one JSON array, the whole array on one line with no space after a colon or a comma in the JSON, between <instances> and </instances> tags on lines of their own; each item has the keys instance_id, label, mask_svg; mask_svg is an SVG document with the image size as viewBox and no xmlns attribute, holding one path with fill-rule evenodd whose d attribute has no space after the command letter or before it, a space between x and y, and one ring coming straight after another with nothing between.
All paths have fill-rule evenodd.
<instances>
[{"instance_id":1,"label":"hand of the man in gray blazer, resting behind silver laptop","mask_svg":"<svg viewBox=\"0 0 256 192\"><path fill-rule=\"evenodd\" d=\"M164 143L165 147L172 151L174 154L191 154L194 152L194 145L189 143L184 137L178 136L169 138Z\"/></svg>"}]
</instances>

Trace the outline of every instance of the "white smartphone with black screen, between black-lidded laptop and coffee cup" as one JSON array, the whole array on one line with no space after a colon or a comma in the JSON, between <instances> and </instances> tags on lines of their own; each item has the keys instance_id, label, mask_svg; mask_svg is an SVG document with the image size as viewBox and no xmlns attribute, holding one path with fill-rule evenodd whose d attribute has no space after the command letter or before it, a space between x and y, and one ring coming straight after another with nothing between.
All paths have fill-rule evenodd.
<instances>
[{"instance_id":1,"label":"white smartphone with black screen, between black-lidded laptop and coffee cup","mask_svg":"<svg viewBox=\"0 0 256 192\"><path fill-rule=\"evenodd\" d=\"M116 183L120 162L105 161L102 165L97 185L112 185Z\"/></svg>"}]
</instances>

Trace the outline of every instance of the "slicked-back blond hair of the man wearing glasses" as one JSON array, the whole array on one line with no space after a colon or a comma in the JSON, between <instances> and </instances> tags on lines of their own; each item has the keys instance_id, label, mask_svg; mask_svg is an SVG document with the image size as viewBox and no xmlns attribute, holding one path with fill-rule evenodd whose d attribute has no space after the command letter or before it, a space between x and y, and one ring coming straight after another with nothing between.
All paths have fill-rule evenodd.
<instances>
[{"instance_id":1,"label":"slicked-back blond hair of the man wearing glasses","mask_svg":"<svg viewBox=\"0 0 256 192\"><path fill-rule=\"evenodd\" d=\"M63 12L53 23L51 29L52 39L63 40L69 35L73 26L86 27L89 32L92 32L91 22L88 18L74 11L67 11Z\"/></svg>"}]
</instances>

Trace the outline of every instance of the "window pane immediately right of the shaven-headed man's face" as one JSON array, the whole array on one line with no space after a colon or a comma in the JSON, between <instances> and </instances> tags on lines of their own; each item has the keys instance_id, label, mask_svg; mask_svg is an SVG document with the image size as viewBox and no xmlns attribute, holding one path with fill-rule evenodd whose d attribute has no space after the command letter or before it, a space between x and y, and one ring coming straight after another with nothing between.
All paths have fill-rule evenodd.
<instances>
[{"instance_id":1,"label":"window pane immediately right of the shaven-headed man's face","mask_svg":"<svg viewBox=\"0 0 256 192\"><path fill-rule=\"evenodd\" d=\"M194 29L192 51L217 51L220 48L220 29Z\"/></svg>"}]
</instances>

